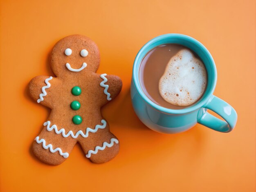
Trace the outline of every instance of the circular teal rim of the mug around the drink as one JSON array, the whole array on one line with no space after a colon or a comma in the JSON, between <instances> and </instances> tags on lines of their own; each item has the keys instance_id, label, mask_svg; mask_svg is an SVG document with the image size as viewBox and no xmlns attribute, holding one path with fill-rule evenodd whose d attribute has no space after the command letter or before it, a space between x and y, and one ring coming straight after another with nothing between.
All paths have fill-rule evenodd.
<instances>
[{"instance_id":1,"label":"circular teal rim of the mug around the drink","mask_svg":"<svg viewBox=\"0 0 256 192\"><path fill-rule=\"evenodd\" d=\"M146 94L143 92L141 84L139 83L139 65L141 64L141 60L139 60L139 57L141 56L141 54L143 54L144 50L154 44L155 42L165 39L165 38L182 38L183 40L187 40L190 42L193 42L197 45L200 46L200 48L202 48L202 51L204 51L207 55L207 57L210 60L210 63L213 67L213 72L214 72L214 76L213 76L213 86L211 87L210 91L207 93L207 95L200 100L197 104L193 105L192 107L187 107L184 109L168 109L166 107L162 107L160 105L157 105L156 103L154 103L152 100L150 100ZM216 87L216 82L217 82L217 69L216 69L216 65L214 63L214 60L210 54L210 52L207 50L206 47L204 47L204 45L199 42L198 40L190 37L190 36L186 36L183 34L179 34L179 33L167 33L164 35L160 35L157 36L151 40L149 40L143 47L141 47L141 49L139 50L139 52L137 53L134 63L133 63L133 68L132 68L132 80L133 83L135 84L135 89L137 90L137 92L139 93L139 95L141 96L141 98L146 101L146 103L148 103L151 107L157 109L158 111L167 113L167 114L186 114L189 112L193 112L201 107L203 107L207 101L211 98L211 96L213 95L214 89Z\"/></svg>"}]
</instances>

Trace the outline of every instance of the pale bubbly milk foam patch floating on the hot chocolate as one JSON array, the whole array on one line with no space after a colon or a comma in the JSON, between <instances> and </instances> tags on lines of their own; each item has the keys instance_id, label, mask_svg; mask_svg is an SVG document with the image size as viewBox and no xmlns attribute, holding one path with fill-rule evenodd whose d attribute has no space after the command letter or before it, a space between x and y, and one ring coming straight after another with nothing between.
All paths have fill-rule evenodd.
<instances>
[{"instance_id":1,"label":"pale bubbly milk foam patch floating on the hot chocolate","mask_svg":"<svg viewBox=\"0 0 256 192\"><path fill-rule=\"evenodd\" d=\"M159 93L168 103L188 106L204 93L207 71L189 49L180 50L166 65L159 80Z\"/></svg>"}]
</instances>

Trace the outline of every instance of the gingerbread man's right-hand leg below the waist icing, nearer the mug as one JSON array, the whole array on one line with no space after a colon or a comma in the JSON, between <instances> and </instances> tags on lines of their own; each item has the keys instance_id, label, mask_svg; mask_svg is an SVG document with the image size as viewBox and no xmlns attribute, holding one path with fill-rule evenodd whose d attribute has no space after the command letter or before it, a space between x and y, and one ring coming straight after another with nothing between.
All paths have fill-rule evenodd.
<instances>
[{"instance_id":1,"label":"gingerbread man's right-hand leg below the waist icing, nearer the mug","mask_svg":"<svg viewBox=\"0 0 256 192\"><path fill-rule=\"evenodd\" d=\"M85 156L93 163L106 163L117 156L119 152L119 141L106 129L98 129L95 133L90 133L88 138L78 139Z\"/></svg>"}]
</instances>

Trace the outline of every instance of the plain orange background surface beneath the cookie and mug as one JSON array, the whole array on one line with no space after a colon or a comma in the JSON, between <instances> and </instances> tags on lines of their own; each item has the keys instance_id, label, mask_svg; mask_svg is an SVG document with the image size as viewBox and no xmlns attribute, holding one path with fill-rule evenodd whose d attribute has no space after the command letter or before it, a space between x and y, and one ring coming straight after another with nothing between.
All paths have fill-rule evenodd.
<instances>
[{"instance_id":1,"label":"plain orange background surface beneath the cookie and mug","mask_svg":"<svg viewBox=\"0 0 256 192\"><path fill-rule=\"evenodd\" d=\"M2 0L1 191L255 191L255 1L254 0ZM132 64L139 49L164 33L202 42L218 70L215 95L238 113L233 132L196 125L167 135L151 131L130 101ZM103 107L119 138L119 155L93 164L79 145L59 166L38 161L31 143L49 109L32 101L29 80L53 75L48 55L70 34L94 40L99 73L123 80L121 94Z\"/></svg>"}]
</instances>

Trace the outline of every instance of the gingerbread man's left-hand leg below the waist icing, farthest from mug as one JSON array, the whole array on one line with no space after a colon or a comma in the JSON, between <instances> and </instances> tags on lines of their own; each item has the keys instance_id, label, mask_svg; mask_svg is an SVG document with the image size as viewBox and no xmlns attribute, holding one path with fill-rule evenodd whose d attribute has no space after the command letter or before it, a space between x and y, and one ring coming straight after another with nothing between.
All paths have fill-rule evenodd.
<instances>
[{"instance_id":1,"label":"gingerbread man's left-hand leg below the waist icing, farthest from mug","mask_svg":"<svg viewBox=\"0 0 256 192\"><path fill-rule=\"evenodd\" d=\"M35 138L32 151L35 156L49 165L59 165L67 159L76 140L72 137L64 138L54 131L47 131L46 127Z\"/></svg>"}]
</instances>

